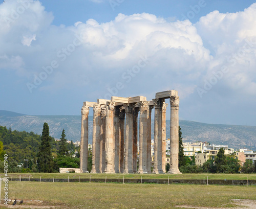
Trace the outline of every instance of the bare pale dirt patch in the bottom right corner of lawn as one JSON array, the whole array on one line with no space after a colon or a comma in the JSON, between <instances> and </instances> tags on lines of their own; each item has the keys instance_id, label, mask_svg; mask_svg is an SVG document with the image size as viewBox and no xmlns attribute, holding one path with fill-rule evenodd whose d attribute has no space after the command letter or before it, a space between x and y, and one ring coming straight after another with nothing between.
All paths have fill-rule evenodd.
<instances>
[{"instance_id":1,"label":"bare pale dirt patch in the bottom right corner of lawn","mask_svg":"<svg viewBox=\"0 0 256 209\"><path fill-rule=\"evenodd\" d=\"M255 209L256 208L256 200L234 199L232 200L232 202L237 205L235 207L232 207L233 209ZM194 209L229 209L228 207L197 207L197 206L190 206L190 205L176 205L176 207L194 208Z\"/></svg>"}]
</instances>

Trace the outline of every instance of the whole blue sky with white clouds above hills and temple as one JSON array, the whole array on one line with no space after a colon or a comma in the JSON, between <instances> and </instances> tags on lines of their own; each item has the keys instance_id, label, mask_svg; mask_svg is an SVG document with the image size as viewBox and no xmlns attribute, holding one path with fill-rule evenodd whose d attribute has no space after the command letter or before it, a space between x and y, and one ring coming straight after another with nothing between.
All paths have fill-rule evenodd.
<instances>
[{"instance_id":1,"label":"whole blue sky with white clouds above hills and temple","mask_svg":"<svg viewBox=\"0 0 256 209\"><path fill-rule=\"evenodd\" d=\"M0 4L3 110L78 115L83 101L176 89L182 120L256 126L255 60L254 1Z\"/></svg>"}]
</instances>

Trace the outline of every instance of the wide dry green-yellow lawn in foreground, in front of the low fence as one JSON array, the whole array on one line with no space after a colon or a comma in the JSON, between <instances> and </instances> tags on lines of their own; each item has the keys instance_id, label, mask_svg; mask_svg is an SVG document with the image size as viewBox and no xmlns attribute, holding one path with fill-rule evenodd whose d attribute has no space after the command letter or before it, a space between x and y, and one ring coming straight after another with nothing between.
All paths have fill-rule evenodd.
<instances>
[{"instance_id":1,"label":"wide dry green-yellow lawn in foreground, in front of the low fence","mask_svg":"<svg viewBox=\"0 0 256 209\"><path fill-rule=\"evenodd\" d=\"M8 187L10 199L42 200L41 205L62 209L177 208L175 205L230 208L234 206L232 199L256 200L255 186L236 185L10 181Z\"/></svg>"}]
</instances>

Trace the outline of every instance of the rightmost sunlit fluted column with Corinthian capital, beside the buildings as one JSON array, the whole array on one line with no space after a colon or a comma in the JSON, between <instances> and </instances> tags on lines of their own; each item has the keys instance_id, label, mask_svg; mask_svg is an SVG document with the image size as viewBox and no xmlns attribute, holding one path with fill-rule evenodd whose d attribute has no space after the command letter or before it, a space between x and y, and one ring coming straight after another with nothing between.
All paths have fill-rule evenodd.
<instances>
[{"instance_id":1,"label":"rightmost sunlit fluted column with Corinthian capital, beside the buildings","mask_svg":"<svg viewBox=\"0 0 256 209\"><path fill-rule=\"evenodd\" d=\"M168 173L180 174L179 171L179 103L178 96L170 97L170 170Z\"/></svg>"}]
</instances>

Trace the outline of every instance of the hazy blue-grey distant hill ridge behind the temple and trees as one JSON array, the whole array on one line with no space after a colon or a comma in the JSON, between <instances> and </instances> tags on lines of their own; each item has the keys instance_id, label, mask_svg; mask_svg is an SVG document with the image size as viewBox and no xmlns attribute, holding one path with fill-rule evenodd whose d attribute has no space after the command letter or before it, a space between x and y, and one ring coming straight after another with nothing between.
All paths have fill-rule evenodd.
<instances>
[{"instance_id":1,"label":"hazy blue-grey distant hill ridge behind the temple and trees","mask_svg":"<svg viewBox=\"0 0 256 209\"><path fill-rule=\"evenodd\" d=\"M92 117L89 116L89 143L92 143ZM12 130L33 131L41 134L42 126L47 122L51 136L61 137L65 129L68 140L80 141L80 115L24 115L0 110L0 125ZM214 144L228 145L230 148L247 148L256 150L256 126L236 126L205 124L193 121L179 121L183 142L207 141ZM170 122L166 121L166 136L169 137ZM152 138L154 138L154 121L152 121Z\"/></svg>"}]
</instances>

